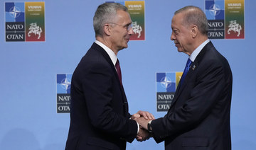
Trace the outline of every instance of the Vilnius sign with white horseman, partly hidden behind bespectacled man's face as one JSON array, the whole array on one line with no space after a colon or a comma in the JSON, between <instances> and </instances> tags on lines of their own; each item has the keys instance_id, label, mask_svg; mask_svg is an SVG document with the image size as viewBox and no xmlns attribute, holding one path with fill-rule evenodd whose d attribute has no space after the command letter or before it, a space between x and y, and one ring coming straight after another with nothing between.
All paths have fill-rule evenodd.
<instances>
[{"instance_id":1,"label":"Vilnius sign with white horseman, partly hidden behind bespectacled man's face","mask_svg":"<svg viewBox=\"0 0 256 150\"><path fill-rule=\"evenodd\" d=\"M127 6L132 19L134 35L130 40L145 40L145 2L144 1L106 1Z\"/></svg>"}]
</instances>

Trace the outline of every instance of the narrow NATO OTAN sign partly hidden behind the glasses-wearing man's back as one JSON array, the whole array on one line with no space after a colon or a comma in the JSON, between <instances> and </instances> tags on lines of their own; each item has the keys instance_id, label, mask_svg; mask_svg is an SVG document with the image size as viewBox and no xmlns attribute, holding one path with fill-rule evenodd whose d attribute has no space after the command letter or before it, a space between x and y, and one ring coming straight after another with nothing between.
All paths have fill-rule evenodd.
<instances>
[{"instance_id":1,"label":"narrow NATO OTAN sign partly hidden behind the glasses-wearing man's back","mask_svg":"<svg viewBox=\"0 0 256 150\"><path fill-rule=\"evenodd\" d=\"M70 113L72 74L57 74L57 113Z\"/></svg>"}]
</instances>

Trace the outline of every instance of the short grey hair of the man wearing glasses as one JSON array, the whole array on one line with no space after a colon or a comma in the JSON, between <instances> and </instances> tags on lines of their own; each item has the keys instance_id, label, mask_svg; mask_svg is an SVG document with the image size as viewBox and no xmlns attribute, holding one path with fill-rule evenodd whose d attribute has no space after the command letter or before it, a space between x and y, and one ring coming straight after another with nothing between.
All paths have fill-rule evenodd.
<instances>
[{"instance_id":1,"label":"short grey hair of the man wearing glasses","mask_svg":"<svg viewBox=\"0 0 256 150\"><path fill-rule=\"evenodd\" d=\"M103 26L105 23L112 23L117 11L128 11L126 6L119 3L104 3L97 7L95 16L93 17L93 28L95 36L103 35Z\"/></svg>"}]
</instances>

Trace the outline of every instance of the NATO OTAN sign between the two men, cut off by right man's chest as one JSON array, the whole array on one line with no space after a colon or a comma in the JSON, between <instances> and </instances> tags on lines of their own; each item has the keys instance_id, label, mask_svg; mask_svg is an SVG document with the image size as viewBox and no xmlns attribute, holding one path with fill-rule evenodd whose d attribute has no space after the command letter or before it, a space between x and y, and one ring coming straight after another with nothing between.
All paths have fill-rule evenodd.
<instances>
[{"instance_id":1,"label":"NATO OTAN sign between the two men, cut off by right man's chest","mask_svg":"<svg viewBox=\"0 0 256 150\"><path fill-rule=\"evenodd\" d=\"M156 73L156 111L168 111L183 72Z\"/></svg>"}]
</instances>

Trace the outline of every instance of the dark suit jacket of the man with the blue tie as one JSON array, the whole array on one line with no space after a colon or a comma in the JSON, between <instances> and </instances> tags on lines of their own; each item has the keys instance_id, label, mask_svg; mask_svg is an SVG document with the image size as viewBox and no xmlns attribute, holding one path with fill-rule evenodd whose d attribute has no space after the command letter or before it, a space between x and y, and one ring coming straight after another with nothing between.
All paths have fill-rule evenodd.
<instances>
[{"instance_id":1,"label":"dark suit jacket of the man with the blue tie","mask_svg":"<svg viewBox=\"0 0 256 150\"><path fill-rule=\"evenodd\" d=\"M151 122L165 149L230 150L232 72L211 42L179 83L168 113Z\"/></svg>"}]
</instances>

